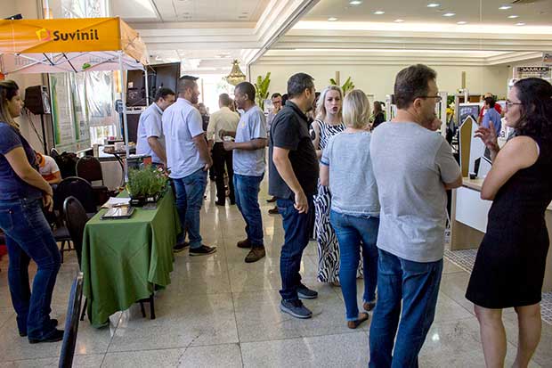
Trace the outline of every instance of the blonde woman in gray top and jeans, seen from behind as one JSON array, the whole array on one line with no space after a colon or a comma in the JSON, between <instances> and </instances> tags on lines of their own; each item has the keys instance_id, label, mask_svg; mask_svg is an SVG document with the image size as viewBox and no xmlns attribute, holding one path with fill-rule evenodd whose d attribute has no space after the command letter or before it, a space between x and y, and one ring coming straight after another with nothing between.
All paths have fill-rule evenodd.
<instances>
[{"instance_id":1,"label":"blonde woman in gray top and jeans, seen from behind","mask_svg":"<svg viewBox=\"0 0 552 368\"><path fill-rule=\"evenodd\" d=\"M346 129L333 136L321 157L321 184L329 186L329 220L339 241L339 279L345 299L347 326L355 329L368 320L359 314L356 301L356 274L363 261L363 308L376 306L377 227L379 201L369 154L369 101L361 90L345 96L343 119Z\"/></svg>"}]
</instances>

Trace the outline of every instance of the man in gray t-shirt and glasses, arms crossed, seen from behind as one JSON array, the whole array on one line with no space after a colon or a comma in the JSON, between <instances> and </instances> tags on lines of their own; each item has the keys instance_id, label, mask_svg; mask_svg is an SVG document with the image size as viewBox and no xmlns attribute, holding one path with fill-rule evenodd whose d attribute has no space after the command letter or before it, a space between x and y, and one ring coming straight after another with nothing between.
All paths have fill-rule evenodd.
<instances>
[{"instance_id":1,"label":"man in gray t-shirt and glasses, arms crossed, seen from behind","mask_svg":"<svg viewBox=\"0 0 552 368\"><path fill-rule=\"evenodd\" d=\"M440 126L434 112L440 100L435 78L425 65L401 70L394 85L396 117L378 126L370 142L381 206L370 367L418 366L419 350L434 320L445 190L462 184L451 146L434 132Z\"/></svg>"}]
</instances>

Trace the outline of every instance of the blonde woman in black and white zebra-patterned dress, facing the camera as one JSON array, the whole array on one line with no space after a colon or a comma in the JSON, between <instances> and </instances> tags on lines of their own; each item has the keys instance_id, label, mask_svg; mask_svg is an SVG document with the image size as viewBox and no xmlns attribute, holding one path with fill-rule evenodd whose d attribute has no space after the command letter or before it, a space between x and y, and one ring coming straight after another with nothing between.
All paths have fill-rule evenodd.
<instances>
[{"instance_id":1,"label":"blonde woman in black and white zebra-patterned dress, facing the camera","mask_svg":"<svg viewBox=\"0 0 552 368\"><path fill-rule=\"evenodd\" d=\"M326 87L318 99L316 119L313 121L313 144L318 158L331 136L345 130L341 118L343 94L338 86ZM331 196L326 186L318 184L314 197L316 242L318 243L318 281L339 283L339 244L336 233L329 224Z\"/></svg>"}]
</instances>

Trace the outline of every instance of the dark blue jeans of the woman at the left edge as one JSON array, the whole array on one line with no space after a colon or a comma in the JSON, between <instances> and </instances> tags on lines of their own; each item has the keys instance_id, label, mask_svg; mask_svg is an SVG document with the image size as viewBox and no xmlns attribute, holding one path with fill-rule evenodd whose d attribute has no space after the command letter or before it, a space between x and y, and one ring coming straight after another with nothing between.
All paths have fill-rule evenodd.
<instances>
[{"instance_id":1,"label":"dark blue jeans of the woman at the left edge","mask_svg":"<svg viewBox=\"0 0 552 368\"><path fill-rule=\"evenodd\" d=\"M50 306L61 256L41 200L0 201L0 228L8 247L8 282L19 331L27 333L29 339L48 338L55 330ZM37 264L32 293L28 284L31 258Z\"/></svg>"}]
</instances>

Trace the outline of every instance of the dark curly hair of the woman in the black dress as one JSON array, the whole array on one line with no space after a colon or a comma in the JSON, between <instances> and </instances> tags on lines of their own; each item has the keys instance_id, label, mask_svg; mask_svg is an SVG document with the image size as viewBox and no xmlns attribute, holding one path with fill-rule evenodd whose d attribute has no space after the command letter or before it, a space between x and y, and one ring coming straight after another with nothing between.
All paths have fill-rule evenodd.
<instances>
[{"instance_id":1,"label":"dark curly hair of the woman in the black dress","mask_svg":"<svg viewBox=\"0 0 552 368\"><path fill-rule=\"evenodd\" d=\"M525 78L514 87L522 102L516 135L532 135L552 143L552 85L544 79Z\"/></svg>"}]
</instances>

